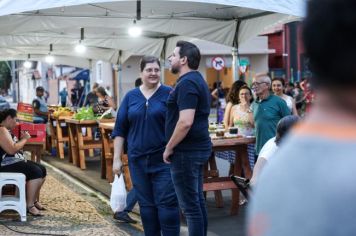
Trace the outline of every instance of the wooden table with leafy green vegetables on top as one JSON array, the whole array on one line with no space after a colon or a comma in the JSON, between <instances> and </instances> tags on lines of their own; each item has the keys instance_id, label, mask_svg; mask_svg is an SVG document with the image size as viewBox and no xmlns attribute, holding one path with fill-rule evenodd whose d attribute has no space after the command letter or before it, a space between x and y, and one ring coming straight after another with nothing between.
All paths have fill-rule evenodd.
<instances>
[{"instance_id":1,"label":"wooden table with leafy green vegetables on top","mask_svg":"<svg viewBox=\"0 0 356 236\"><path fill-rule=\"evenodd\" d=\"M75 120L65 119L69 130L69 144L71 149L71 159L74 165L82 170L86 169L85 150L89 151L89 156L94 156L94 148L102 148L101 140L94 140L92 129L98 127L96 120ZM83 128L86 135L83 134Z\"/></svg>"}]
</instances>

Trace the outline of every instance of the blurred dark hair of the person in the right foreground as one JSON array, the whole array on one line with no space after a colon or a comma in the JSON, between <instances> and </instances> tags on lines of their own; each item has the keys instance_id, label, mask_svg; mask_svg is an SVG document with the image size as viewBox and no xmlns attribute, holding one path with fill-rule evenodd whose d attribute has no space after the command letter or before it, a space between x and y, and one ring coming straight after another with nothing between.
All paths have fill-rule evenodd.
<instances>
[{"instance_id":1,"label":"blurred dark hair of the person in the right foreground","mask_svg":"<svg viewBox=\"0 0 356 236\"><path fill-rule=\"evenodd\" d=\"M310 0L303 40L312 84L324 88L356 85L356 1Z\"/></svg>"}]
</instances>

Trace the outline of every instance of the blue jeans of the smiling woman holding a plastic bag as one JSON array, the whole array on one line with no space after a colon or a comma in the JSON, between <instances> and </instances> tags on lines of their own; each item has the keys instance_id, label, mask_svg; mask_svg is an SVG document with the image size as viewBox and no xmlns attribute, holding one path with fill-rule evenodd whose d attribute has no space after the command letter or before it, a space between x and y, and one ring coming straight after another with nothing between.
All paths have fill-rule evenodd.
<instances>
[{"instance_id":1,"label":"blue jeans of the smiling woman holding a plastic bag","mask_svg":"<svg viewBox=\"0 0 356 236\"><path fill-rule=\"evenodd\" d=\"M129 168L145 235L179 236L177 196L162 153L129 158Z\"/></svg>"}]
</instances>

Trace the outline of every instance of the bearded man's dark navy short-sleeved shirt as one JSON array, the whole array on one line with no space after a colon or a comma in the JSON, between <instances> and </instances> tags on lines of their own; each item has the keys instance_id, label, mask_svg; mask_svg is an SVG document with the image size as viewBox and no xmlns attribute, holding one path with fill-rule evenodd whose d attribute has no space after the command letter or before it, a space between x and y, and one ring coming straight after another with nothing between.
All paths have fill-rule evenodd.
<instances>
[{"instance_id":1,"label":"bearded man's dark navy short-sleeved shirt","mask_svg":"<svg viewBox=\"0 0 356 236\"><path fill-rule=\"evenodd\" d=\"M177 81L167 100L166 137L169 140L176 127L179 112L195 109L193 125L174 151L211 151L209 136L210 92L198 71L184 74Z\"/></svg>"}]
</instances>

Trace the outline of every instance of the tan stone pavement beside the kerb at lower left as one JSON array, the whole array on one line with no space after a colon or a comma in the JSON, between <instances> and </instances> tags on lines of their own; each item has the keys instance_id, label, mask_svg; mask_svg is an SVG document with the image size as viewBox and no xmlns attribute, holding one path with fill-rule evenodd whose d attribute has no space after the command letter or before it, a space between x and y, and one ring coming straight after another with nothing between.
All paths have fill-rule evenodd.
<instances>
[{"instance_id":1,"label":"tan stone pavement beside the kerb at lower left","mask_svg":"<svg viewBox=\"0 0 356 236\"><path fill-rule=\"evenodd\" d=\"M47 171L40 199L47 208L45 216L28 216L21 222L18 214L5 211L0 214L0 235L143 235L129 224L115 222L110 207L94 194L50 168Z\"/></svg>"}]
</instances>

